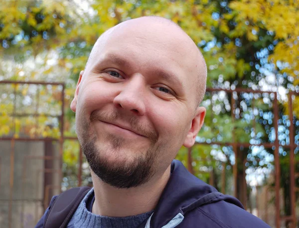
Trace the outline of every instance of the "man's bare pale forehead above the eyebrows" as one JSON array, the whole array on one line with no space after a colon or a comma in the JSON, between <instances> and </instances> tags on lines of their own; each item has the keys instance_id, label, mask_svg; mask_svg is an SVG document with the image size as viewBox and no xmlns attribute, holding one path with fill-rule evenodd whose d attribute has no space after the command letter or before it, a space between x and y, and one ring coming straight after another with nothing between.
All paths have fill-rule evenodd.
<instances>
[{"instance_id":1,"label":"man's bare pale forehead above the eyebrows","mask_svg":"<svg viewBox=\"0 0 299 228\"><path fill-rule=\"evenodd\" d=\"M107 32L95 47L96 56L114 49L118 54L126 54L127 58L172 60L182 68L188 68L189 64L194 62L197 47L180 28L141 22L119 24Z\"/></svg>"}]
</instances>

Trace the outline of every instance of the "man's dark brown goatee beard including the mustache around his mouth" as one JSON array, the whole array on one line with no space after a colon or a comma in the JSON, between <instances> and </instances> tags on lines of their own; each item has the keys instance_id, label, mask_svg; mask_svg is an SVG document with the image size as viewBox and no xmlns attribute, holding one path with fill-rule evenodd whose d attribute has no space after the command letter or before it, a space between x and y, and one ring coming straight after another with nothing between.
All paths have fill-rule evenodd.
<instances>
[{"instance_id":1,"label":"man's dark brown goatee beard including the mustache around his mouth","mask_svg":"<svg viewBox=\"0 0 299 228\"><path fill-rule=\"evenodd\" d=\"M130 158L121 159L122 161L116 162L117 159L113 162L109 161L107 154L113 154L117 158L125 152L122 149L128 144L128 140L111 133L105 133L104 142L110 142L110 144L100 148L97 146L96 134L89 134L90 126L94 121L114 122L117 119L125 119L134 130L149 138L150 146L146 153L139 151ZM156 157L160 148L157 144L158 135L154 130L142 126L138 117L121 116L119 112L112 114L93 112L89 121L82 118L80 122L83 127L80 137L82 151L91 170L100 180L115 188L129 189L147 183L155 174Z\"/></svg>"}]
</instances>

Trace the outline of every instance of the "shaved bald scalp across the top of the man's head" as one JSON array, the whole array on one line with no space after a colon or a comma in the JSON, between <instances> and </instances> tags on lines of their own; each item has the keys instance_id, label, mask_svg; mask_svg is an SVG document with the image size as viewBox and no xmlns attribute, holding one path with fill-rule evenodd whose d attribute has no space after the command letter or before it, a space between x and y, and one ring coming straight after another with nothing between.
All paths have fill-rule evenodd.
<instances>
[{"instance_id":1,"label":"shaved bald scalp across the top of the man's head","mask_svg":"<svg viewBox=\"0 0 299 228\"><path fill-rule=\"evenodd\" d=\"M169 46L173 52L179 53L181 56L180 64L189 68L186 71L190 71L190 73L186 76L190 77L190 86L194 89L193 96L195 96L196 106L201 103L206 90L207 77L207 67L203 55L179 25L163 17L139 17L124 21L108 29L96 41L85 68L88 69L92 62L96 62L99 53L103 51L108 42L111 42L115 37L121 38L124 35L132 38L137 37L138 40L145 39L148 42L156 42L157 45L161 45L158 40L161 40L162 36L164 39L168 39L169 45L167 43L165 45ZM145 51L144 54L147 52ZM191 78L191 74L195 74L195 77Z\"/></svg>"}]
</instances>

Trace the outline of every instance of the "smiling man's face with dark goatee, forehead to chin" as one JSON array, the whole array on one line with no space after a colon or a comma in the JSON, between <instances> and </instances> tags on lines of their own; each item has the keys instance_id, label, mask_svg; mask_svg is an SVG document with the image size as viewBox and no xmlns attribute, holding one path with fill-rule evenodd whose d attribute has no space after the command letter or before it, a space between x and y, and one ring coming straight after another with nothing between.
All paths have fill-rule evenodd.
<instances>
[{"instance_id":1,"label":"smiling man's face with dark goatee, forehead to chin","mask_svg":"<svg viewBox=\"0 0 299 228\"><path fill-rule=\"evenodd\" d=\"M71 105L78 139L93 172L112 186L146 183L190 146L200 63L175 32L161 24L119 26L80 75Z\"/></svg>"}]
</instances>

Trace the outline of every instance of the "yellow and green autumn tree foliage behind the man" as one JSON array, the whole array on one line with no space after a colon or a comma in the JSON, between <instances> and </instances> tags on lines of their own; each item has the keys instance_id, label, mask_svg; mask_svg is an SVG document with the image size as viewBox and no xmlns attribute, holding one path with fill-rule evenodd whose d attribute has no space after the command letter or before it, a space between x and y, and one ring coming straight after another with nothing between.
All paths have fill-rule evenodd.
<instances>
[{"instance_id":1,"label":"yellow and green autumn tree foliage behind the man","mask_svg":"<svg viewBox=\"0 0 299 228\"><path fill-rule=\"evenodd\" d=\"M0 78L65 81L65 135L75 135L74 114L69 110L69 104L79 72L84 68L92 45L107 28L139 16L169 18L190 35L206 59L208 87L280 89L283 92L299 88L299 6L293 1L86 0L84 6L65 0L51 3L35 0L6 1L0 6L0 53L8 59L0 63L0 75L3 75ZM38 63L40 67L26 68L28 61L37 65L38 59L42 59ZM50 64L53 59L55 64ZM18 63L16 67L7 71L5 66L15 62ZM234 118L231 115L231 96L223 92L207 93L202 105L209 108L198 140L205 143L233 140L247 143L273 142L272 95L233 95L236 110ZM279 101L282 119L287 114L284 93L281 93ZM10 103L5 102L1 98L2 110L9 110ZM294 113L297 118L299 106L295 104L298 102L296 96ZM3 120L7 117L0 118ZM10 130L6 124L5 129L0 128L2 135ZM280 135L289 137L285 132L280 132ZM281 143L283 141L280 140ZM237 148L238 157L234 158L233 148L215 147L201 145L193 148L195 175L207 180L209 175L203 175L200 167L206 167L208 172L210 167L219 171L237 162L240 168L238 179L244 182L244 160L246 169L273 169L273 161L269 159L273 157L272 150L253 146ZM211 155L211 151L216 152ZM186 161L186 156L186 150L182 148L178 158ZM227 162L227 165L222 166L222 162ZM215 175L219 179L218 171ZM220 186L216 187L220 189ZM245 191L243 184L237 188L238 192ZM246 199L241 195L239 198L245 203Z\"/></svg>"}]
</instances>

